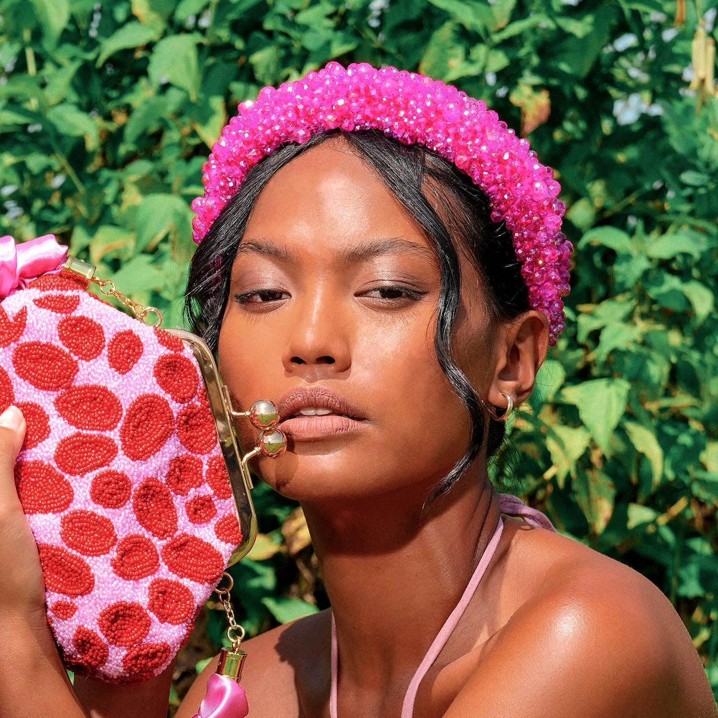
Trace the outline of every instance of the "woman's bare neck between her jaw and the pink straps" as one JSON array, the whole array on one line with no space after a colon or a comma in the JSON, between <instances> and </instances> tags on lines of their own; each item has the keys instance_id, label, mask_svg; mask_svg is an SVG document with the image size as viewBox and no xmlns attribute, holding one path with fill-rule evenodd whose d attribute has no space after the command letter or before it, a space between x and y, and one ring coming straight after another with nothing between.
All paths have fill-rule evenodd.
<instances>
[{"instance_id":1,"label":"woman's bare neck between her jaw and the pink straps","mask_svg":"<svg viewBox=\"0 0 718 718\"><path fill-rule=\"evenodd\" d=\"M425 498L304 505L345 685L406 688L493 536L498 500L485 471L428 507Z\"/></svg>"}]
</instances>

